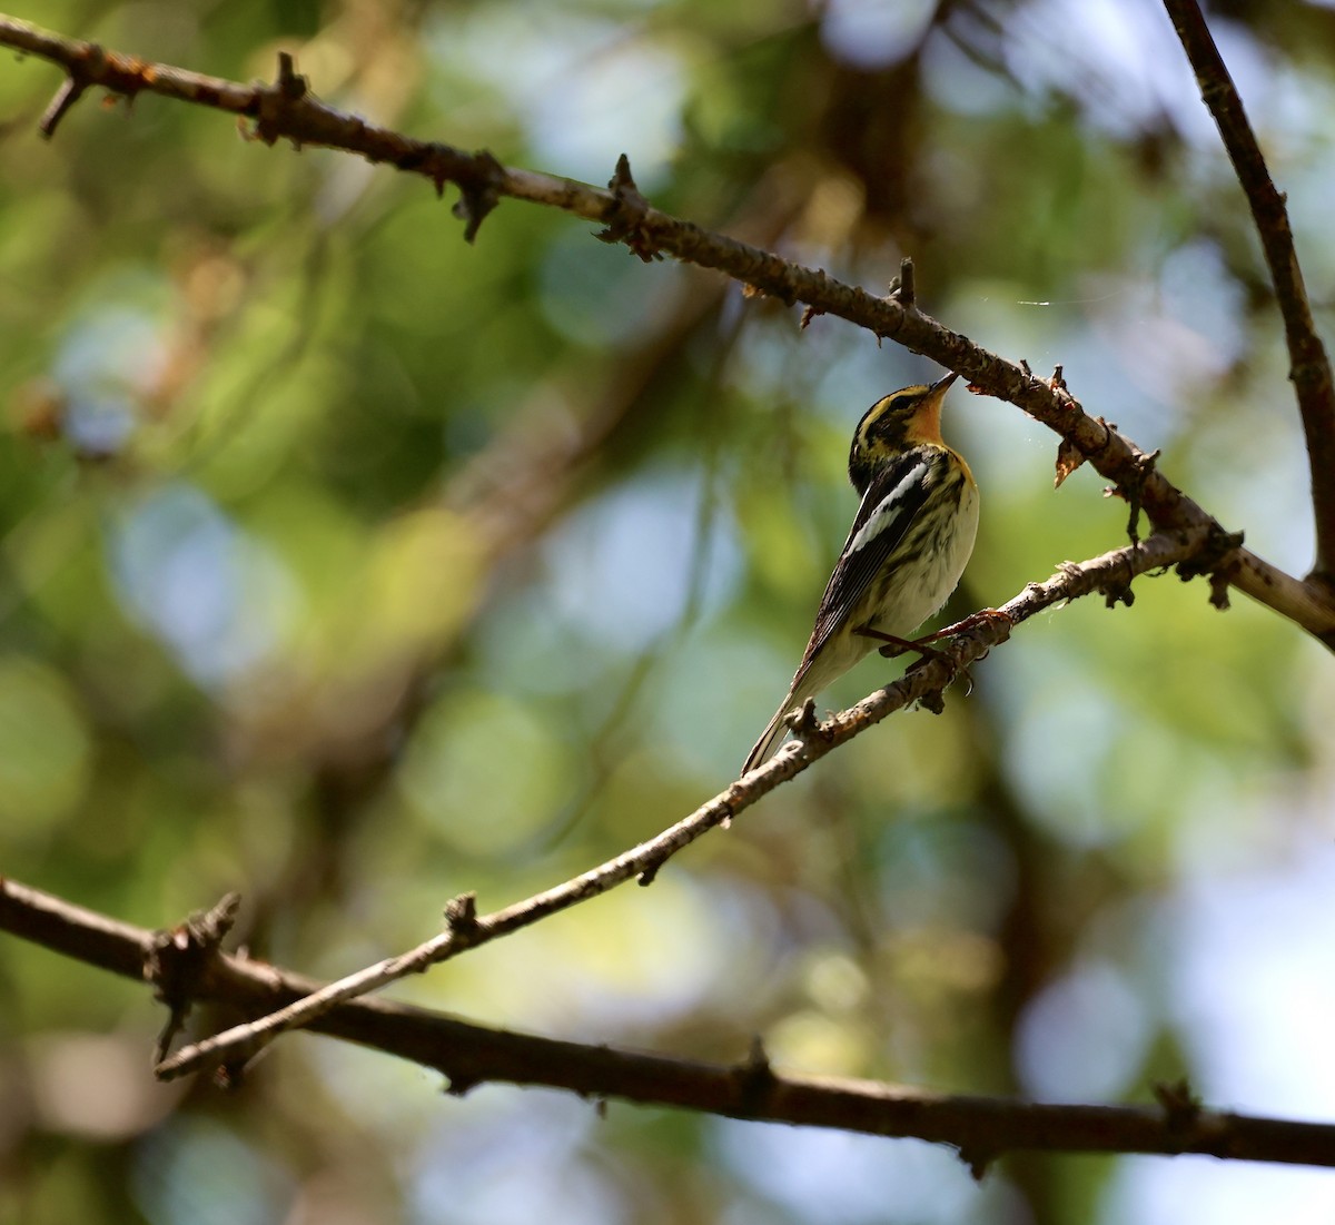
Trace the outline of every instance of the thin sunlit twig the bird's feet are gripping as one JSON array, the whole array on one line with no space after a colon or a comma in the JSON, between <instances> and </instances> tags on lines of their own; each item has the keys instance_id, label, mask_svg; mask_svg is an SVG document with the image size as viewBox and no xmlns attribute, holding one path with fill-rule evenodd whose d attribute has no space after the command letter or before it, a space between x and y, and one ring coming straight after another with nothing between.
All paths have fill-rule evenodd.
<instances>
[{"instance_id":1,"label":"thin sunlit twig the bird's feet are gripping","mask_svg":"<svg viewBox=\"0 0 1335 1225\"><path fill-rule=\"evenodd\" d=\"M936 657L921 667L912 669L902 679L820 723L810 735L794 741L786 751L737 779L655 838L503 910L470 919L467 925L449 923L439 935L407 953L358 970L338 982L328 983L316 994L256 1021L236 1025L184 1048L158 1065L158 1076L174 1080L190 1072L216 1068L223 1062L243 1061L279 1034L310 1025L314 1018L347 999L366 995L409 974L418 974L433 965L449 961L467 949L475 949L498 937L531 926L551 914L607 893L633 877L639 877L647 883L677 851L714 826L745 811L761 797L801 774L838 745L850 741L897 710L939 695L961 669L981 659L993 646L1004 642L1013 626L1044 608L1092 591L1123 590L1136 575L1184 562L1208 543L1210 536L1200 530L1160 532L1140 544L1117 548L1079 564L1064 564L1047 582L1031 583L1004 604L999 610L1004 617L983 618L963 633L945 639L937 646Z\"/></svg>"}]
</instances>

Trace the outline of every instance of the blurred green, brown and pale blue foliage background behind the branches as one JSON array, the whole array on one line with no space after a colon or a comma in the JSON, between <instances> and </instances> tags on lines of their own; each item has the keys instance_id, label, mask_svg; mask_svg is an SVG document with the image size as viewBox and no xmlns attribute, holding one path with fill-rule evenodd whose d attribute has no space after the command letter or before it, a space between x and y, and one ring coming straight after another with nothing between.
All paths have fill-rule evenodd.
<instances>
[{"instance_id":1,"label":"blurred green, brown and pale blue foliage background behind the branches","mask_svg":"<svg viewBox=\"0 0 1335 1225\"><path fill-rule=\"evenodd\" d=\"M16 13L602 183L1047 372L1268 559L1311 560L1282 328L1151 0L43 0ZM1320 324L1335 9L1211 21ZM0 68L3 870L160 926L239 889L338 975L655 833L736 774L854 508L868 404L940 371L505 203ZM1124 540L957 390L984 491L949 611ZM1332 661L1136 584L1025 625L623 889L396 989L483 1022L940 1090L1328 1118ZM873 659L830 706L884 683ZM0 943L0 1220L1290 1225L1335 1173L1016 1156L479 1088L295 1036L160 1086L142 986ZM207 1019L207 1018L206 1018Z\"/></svg>"}]
</instances>

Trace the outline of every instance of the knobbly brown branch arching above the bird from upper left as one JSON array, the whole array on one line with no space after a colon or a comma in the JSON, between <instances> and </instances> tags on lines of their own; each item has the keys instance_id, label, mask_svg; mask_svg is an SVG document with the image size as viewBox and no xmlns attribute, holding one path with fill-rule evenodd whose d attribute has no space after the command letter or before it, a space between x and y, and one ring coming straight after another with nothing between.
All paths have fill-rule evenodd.
<instances>
[{"instance_id":1,"label":"knobbly brown branch arching above the bird from upper left","mask_svg":"<svg viewBox=\"0 0 1335 1225\"><path fill-rule=\"evenodd\" d=\"M455 214L465 219L465 238L470 242L497 201L509 196L601 222L607 228L599 238L625 243L641 259L666 252L786 303L801 302L818 314L837 315L959 371L977 390L1009 400L1043 422L1063 438L1068 454L1077 454L1119 490L1133 494L1155 527L1193 527L1220 536L1224 532L1216 519L1161 472L1147 468L1144 452L1135 443L1101 418L1087 415L1060 380L1035 378L1027 364L981 348L894 295L877 298L842 284L820 268L789 263L659 212L635 188L625 156L606 189L503 167L487 152L465 153L446 144L414 140L326 107L310 93L304 77L294 72L286 56L280 57L276 84L240 85L150 64L4 16L0 16L0 45L60 64L81 88L100 85L127 97L151 92L214 107L254 120L254 135L267 144L288 139L298 147L322 145L359 153L368 161L423 175L438 191L454 183L461 192ZM61 113L64 109L68 107ZM1328 584L1304 583L1243 548L1231 550L1219 563L1242 591L1335 650L1335 590Z\"/></svg>"}]
</instances>

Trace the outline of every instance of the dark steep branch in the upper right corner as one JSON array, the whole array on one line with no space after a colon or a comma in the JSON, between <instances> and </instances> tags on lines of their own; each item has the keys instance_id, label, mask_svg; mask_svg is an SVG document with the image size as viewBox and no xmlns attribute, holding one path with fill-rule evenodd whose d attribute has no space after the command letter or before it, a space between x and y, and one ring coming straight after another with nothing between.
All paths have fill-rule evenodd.
<instances>
[{"instance_id":1,"label":"dark steep branch in the upper right corner","mask_svg":"<svg viewBox=\"0 0 1335 1225\"><path fill-rule=\"evenodd\" d=\"M1219 127L1270 266L1275 299L1284 319L1288 376L1298 395L1312 478L1316 562L1308 578L1330 586L1335 583L1335 378L1331 376L1330 358L1316 334L1307 302L1288 210L1270 176L1238 87L1215 45L1200 5L1196 0L1164 0L1164 8L1196 73L1200 96Z\"/></svg>"}]
</instances>

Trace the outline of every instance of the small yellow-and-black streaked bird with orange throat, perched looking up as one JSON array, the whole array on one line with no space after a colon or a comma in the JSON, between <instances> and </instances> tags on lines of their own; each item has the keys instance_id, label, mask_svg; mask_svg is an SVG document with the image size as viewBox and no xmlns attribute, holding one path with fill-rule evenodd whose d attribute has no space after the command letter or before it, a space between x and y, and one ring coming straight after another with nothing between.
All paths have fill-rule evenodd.
<instances>
[{"instance_id":1,"label":"small yellow-and-black streaked bird with orange throat, perched looking up","mask_svg":"<svg viewBox=\"0 0 1335 1225\"><path fill-rule=\"evenodd\" d=\"M862 500L793 683L742 774L778 747L793 711L873 647L920 647L908 635L960 582L979 530L979 486L941 438L941 404L956 378L894 391L857 423L848 476Z\"/></svg>"}]
</instances>

